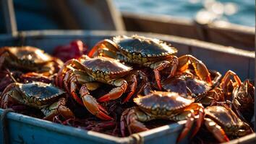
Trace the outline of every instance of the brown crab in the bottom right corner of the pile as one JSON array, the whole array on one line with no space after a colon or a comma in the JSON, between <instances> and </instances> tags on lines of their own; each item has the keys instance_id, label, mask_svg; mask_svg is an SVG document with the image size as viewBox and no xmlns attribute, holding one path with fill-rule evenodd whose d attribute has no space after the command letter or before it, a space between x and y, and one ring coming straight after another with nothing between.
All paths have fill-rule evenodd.
<instances>
[{"instance_id":1,"label":"brown crab in the bottom right corner of the pile","mask_svg":"<svg viewBox=\"0 0 256 144\"><path fill-rule=\"evenodd\" d=\"M228 135L242 137L253 132L247 123L223 103L205 108L204 124L220 143L229 141Z\"/></svg>"}]
</instances>

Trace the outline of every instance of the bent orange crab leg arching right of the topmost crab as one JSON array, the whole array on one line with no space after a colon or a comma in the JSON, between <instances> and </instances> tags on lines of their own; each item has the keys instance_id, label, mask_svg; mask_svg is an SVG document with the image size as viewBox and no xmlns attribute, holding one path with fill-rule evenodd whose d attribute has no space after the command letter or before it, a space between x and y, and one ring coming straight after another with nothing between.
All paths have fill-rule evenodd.
<instances>
[{"instance_id":1,"label":"bent orange crab leg arching right of the topmost crab","mask_svg":"<svg viewBox=\"0 0 256 144\"><path fill-rule=\"evenodd\" d=\"M202 63L201 60L198 60L192 55L183 55L179 57L179 66L177 71L186 71L187 68L189 68L189 64L192 64L193 68L195 68L195 73L197 73L197 76L201 80L207 81L210 84L212 83L208 68L206 68L205 64Z\"/></svg>"}]
</instances>

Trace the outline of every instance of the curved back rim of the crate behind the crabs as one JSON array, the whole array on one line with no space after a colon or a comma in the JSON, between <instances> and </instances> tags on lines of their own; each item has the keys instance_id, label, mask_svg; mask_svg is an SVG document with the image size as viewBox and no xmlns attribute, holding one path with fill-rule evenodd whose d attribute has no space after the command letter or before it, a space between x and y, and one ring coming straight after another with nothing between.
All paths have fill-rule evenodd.
<instances>
[{"instance_id":1,"label":"curved back rim of the crate behind the crabs","mask_svg":"<svg viewBox=\"0 0 256 144\"><path fill-rule=\"evenodd\" d=\"M26 40L26 38L64 38L64 37L113 37L115 35L143 35L145 37L158 38L163 41L177 42L184 45L200 47L205 50L215 50L221 53L229 53L247 58L255 58L255 51L242 50L231 46L218 45L211 42L204 42L191 38L178 37L174 35L163 35L149 32L132 32L132 31L109 31L109 30L29 30L14 32L13 34L1 34L1 40Z\"/></svg>"}]
</instances>

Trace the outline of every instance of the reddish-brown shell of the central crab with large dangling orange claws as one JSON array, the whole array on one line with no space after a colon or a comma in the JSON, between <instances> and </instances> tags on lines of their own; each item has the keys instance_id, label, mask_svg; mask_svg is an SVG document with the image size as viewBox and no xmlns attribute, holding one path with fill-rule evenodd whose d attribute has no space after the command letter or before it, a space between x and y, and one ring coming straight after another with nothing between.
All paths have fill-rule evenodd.
<instances>
[{"instance_id":1,"label":"reddish-brown shell of the central crab with large dangling orange claws","mask_svg":"<svg viewBox=\"0 0 256 144\"><path fill-rule=\"evenodd\" d=\"M88 57L87 57L88 58ZM88 58L82 60L82 65L90 76L98 81L108 81L111 79L121 78L127 75L132 68L120 63L114 58L106 58L98 56L96 58Z\"/></svg>"}]
</instances>

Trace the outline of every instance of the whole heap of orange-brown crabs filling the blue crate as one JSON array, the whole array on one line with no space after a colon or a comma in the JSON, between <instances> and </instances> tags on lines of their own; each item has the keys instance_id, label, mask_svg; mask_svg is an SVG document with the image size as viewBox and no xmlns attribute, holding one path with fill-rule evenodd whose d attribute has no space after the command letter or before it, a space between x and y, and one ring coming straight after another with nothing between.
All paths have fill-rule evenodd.
<instances>
[{"instance_id":1,"label":"whole heap of orange-brown crabs filling the blue crate","mask_svg":"<svg viewBox=\"0 0 256 144\"><path fill-rule=\"evenodd\" d=\"M177 57L161 40L116 36L88 55L74 41L55 50L65 63L38 48L0 50L3 109L119 137L181 120L177 142L187 135L195 143L226 142L253 132L253 84L233 71L210 71L192 55Z\"/></svg>"}]
</instances>

